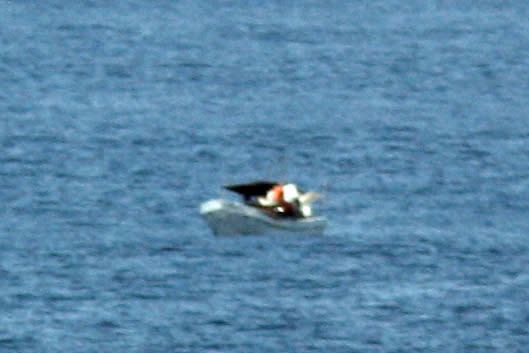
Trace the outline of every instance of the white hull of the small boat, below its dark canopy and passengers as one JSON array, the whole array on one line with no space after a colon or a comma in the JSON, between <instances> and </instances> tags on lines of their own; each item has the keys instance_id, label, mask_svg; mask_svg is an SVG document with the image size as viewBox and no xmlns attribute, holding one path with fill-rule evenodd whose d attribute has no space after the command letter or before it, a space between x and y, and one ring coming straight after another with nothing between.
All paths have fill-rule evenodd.
<instances>
[{"instance_id":1,"label":"white hull of the small boat, below its dark canopy and passengers","mask_svg":"<svg viewBox=\"0 0 529 353\"><path fill-rule=\"evenodd\" d=\"M200 214L215 235L321 235L324 217L276 218L240 202L215 199L200 205Z\"/></svg>"}]
</instances>

